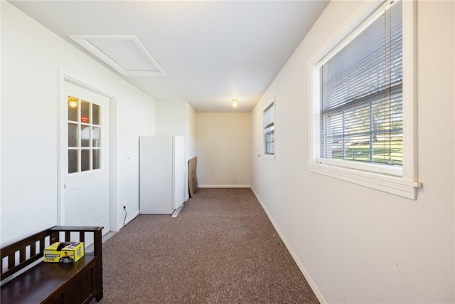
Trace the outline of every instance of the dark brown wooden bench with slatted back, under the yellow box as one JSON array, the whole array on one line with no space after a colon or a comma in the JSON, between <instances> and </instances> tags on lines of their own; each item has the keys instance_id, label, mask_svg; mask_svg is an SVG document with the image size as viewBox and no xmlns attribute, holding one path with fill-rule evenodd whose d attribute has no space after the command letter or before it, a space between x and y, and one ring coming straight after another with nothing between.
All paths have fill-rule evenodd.
<instances>
[{"instance_id":1,"label":"dark brown wooden bench with slatted back, under the yellow box","mask_svg":"<svg viewBox=\"0 0 455 304\"><path fill-rule=\"evenodd\" d=\"M1 281L6 282L0 288L1 303L79 304L90 303L94 298L100 301L102 228L55 226L1 248ZM43 261L46 246L56 241L84 242L86 234L93 236L92 253L85 252L74 264Z\"/></svg>"}]
</instances>

